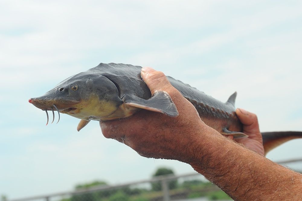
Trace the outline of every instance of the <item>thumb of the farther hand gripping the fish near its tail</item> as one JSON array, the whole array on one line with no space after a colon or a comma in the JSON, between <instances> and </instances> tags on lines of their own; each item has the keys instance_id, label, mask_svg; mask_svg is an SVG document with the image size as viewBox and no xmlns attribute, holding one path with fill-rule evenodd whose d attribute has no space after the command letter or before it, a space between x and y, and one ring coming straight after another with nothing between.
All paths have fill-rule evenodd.
<instances>
[{"instance_id":1,"label":"thumb of the farther hand gripping the fish near its tail","mask_svg":"<svg viewBox=\"0 0 302 201\"><path fill-rule=\"evenodd\" d=\"M259 133L259 124L257 116L254 113L244 109L236 109L236 115L243 124L243 132L246 134Z\"/></svg>"}]
</instances>

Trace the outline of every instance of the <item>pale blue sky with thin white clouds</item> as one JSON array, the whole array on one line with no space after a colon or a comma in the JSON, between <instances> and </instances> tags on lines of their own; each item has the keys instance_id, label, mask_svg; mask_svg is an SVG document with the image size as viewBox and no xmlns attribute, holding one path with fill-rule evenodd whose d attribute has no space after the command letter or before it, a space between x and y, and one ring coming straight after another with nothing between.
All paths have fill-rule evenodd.
<instances>
[{"instance_id":1,"label":"pale blue sky with thin white clouds","mask_svg":"<svg viewBox=\"0 0 302 201\"><path fill-rule=\"evenodd\" d=\"M130 182L162 166L194 172L106 139L97 121L77 132L79 119L61 114L45 126L45 112L28 99L101 62L150 66L223 102L237 91L236 106L257 114L261 131L302 131L301 10L301 1L276 0L2 0L0 194ZM301 144L267 157L301 158Z\"/></svg>"}]
</instances>

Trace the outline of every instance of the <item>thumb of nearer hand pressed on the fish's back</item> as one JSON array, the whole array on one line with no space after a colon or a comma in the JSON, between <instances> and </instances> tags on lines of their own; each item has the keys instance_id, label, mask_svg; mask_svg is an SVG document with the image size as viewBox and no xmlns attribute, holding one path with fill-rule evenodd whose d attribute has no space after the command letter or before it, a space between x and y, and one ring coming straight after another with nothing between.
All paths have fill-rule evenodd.
<instances>
[{"instance_id":1,"label":"thumb of nearer hand pressed on the fish's back","mask_svg":"<svg viewBox=\"0 0 302 201\"><path fill-rule=\"evenodd\" d=\"M150 89L151 94L154 94L156 90L166 92L175 90L168 78L161 71L156 71L150 67L144 67L142 68L141 76Z\"/></svg>"}]
</instances>

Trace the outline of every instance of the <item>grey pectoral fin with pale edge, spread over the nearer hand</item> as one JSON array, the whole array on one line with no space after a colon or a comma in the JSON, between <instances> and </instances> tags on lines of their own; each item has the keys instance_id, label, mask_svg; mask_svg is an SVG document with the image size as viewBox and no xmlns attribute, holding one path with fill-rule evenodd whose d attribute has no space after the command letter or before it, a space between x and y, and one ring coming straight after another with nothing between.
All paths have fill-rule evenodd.
<instances>
[{"instance_id":1,"label":"grey pectoral fin with pale edge, spread over the nearer hand","mask_svg":"<svg viewBox=\"0 0 302 201\"><path fill-rule=\"evenodd\" d=\"M148 99L141 99L137 96L125 96L124 104L145 110L160 112L170 117L177 117L178 111L169 94L165 91L156 91Z\"/></svg>"}]
</instances>

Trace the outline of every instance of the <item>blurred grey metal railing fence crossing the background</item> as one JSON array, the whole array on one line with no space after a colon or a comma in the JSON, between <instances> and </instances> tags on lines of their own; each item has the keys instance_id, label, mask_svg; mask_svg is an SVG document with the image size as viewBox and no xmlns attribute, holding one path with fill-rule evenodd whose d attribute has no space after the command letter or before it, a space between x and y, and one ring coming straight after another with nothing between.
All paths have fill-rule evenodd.
<instances>
[{"instance_id":1,"label":"blurred grey metal railing fence crossing the background","mask_svg":"<svg viewBox=\"0 0 302 201\"><path fill-rule=\"evenodd\" d=\"M281 161L279 164L301 162L302 159ZM125 184L81 187L47 195L32 196L9 201L169 201L169 200L229 199L216 185L198 173L165 175Z\"/></svg>"}]
</instances>

